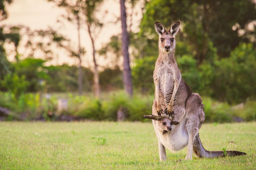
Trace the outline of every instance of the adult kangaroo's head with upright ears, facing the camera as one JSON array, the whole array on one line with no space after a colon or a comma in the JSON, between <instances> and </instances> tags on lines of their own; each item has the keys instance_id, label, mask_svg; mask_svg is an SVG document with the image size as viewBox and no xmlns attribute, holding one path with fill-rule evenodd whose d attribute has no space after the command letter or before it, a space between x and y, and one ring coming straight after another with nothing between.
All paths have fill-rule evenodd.
<instances>
[{"instance_id":1,"label":"adult kangaroo's head with upright ears, facing the camera","mask_svg":"<svg viewBox=\"0 0 256 170\"><path fill-rule=\"evenodd\" d=\"M155 29L159 34L158 48L169 53L175 49L175 34L180 29L180 21L175 21L171 24L171 27L166 30L163 24L158 21L155 21Z\"/></svg>"}]
</instances>

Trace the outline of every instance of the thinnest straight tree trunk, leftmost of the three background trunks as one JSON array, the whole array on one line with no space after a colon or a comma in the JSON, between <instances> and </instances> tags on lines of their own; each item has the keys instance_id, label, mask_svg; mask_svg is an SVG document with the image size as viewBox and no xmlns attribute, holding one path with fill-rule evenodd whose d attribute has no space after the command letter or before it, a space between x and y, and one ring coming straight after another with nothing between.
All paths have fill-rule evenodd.
<instances>
[{"instance_id":1,"label":"thinnest straight tree trunk, leftmost of the three background trunks","mask_svg":"<svg viewBox=\"0 0 256 170\"><path fill-rule=\"evenodd\" d=\"M81 96L83 93L82 87L82 59L81 59L81 42L80 42L80 18L76 16L77 20L77 35L78 35L78 58L79 58L79 69L78 69L78 93Z\"/></svg>"}]
</instances>

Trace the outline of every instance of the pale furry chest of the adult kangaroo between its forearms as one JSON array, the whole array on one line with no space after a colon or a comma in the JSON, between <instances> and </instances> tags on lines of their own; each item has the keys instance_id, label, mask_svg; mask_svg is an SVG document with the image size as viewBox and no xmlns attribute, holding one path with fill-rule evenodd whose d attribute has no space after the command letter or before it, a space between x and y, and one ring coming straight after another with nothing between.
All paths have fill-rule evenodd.
<instances>
[{"instance_id":1,"label":"pale furry chest of the adult kangaroo between its forearms","mask_svg":"<svg viewBox=\"0 0 256 170\"><path fill-rule=\"evenodd\" d=\"M170 64L162 64L155 70L154 80L159 81L159 97L161 103L168 104L174 88L174 67Z\"/></svg>"}]
</instances>

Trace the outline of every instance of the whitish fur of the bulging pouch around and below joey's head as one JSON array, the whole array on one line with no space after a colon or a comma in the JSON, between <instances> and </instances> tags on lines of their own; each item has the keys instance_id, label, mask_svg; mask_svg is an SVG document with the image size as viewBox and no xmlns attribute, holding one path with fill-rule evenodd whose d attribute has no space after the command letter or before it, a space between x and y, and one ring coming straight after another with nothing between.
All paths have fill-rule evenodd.
<instances>
[{"instance_id":1,"label":"whitish fur of the bulging pouch around and below joey's head","mask_svg":"<svg viewBox=\"0 0 256 170\"><path fill-rule=\"evenodd\" d=\"M154 124L154 123L153 123ZM158 140L162 143L165 148L170 151L179 151L187 146L188 134L185 127L185 119L180 122L180 125L172 125L172 131L162 135L162 132L155 127Z\"/></svg>"}]
</instances>

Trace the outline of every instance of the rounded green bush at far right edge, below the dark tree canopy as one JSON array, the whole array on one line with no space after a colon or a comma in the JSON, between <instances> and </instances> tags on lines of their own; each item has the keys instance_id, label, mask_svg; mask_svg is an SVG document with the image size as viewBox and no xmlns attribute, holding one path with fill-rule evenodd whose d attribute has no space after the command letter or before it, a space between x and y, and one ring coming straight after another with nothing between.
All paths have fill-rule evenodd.
<instances>
[{"instance_id":1,"label":"rounded green bush at far right edge, below the dark tree canopy","mask_svg":"<svg viewBox=\"0 0 256 170\"><path fill-rule=\"evenodd\" d=\"M213 97L229 103L256 98L256 50L252 44L240 44L229 58L216 62Z\"/></svg>"}]
</instances>

